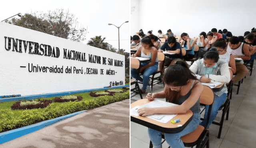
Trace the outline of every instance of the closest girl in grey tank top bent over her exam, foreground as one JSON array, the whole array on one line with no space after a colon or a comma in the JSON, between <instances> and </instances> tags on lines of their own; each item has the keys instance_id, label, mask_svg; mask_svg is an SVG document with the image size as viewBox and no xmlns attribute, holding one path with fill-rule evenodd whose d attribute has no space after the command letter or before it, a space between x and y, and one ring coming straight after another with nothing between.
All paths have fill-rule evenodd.
<instances>
[{"instance_id":1,"label":"closest girl in grey tank top bent over her exam, foreground","mask_svg":"<svg viewBox=\"0 0 256 148\"><path fill-rule=\"evenodd\" d=\"M203 91L202 84L188 69L188 65L184 61L176 61L174 65L170 65L165 72L164 81L166 85L164 90L158 93L148 93L148 100L155 98L166 98L166 101L178 104L172 107L159 108L142 108L138 110L140 116L150 114L179 114L185 113L189 109L193 112L192 120L188 125L178 133L164 133L166 142L172 148L184 148L181 136L194 131L200 123L200 95ZM154 148L162 148L162 132L148 128L148 134Z\"/></svg>"}]
</instances>

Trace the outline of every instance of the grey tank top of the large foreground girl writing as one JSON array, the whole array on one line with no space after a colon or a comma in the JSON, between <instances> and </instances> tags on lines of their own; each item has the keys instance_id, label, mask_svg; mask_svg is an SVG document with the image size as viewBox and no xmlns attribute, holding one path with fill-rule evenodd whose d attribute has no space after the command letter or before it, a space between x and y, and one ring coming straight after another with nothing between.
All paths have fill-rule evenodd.
<instances>
[{"instance_id":1,"label":"grey tank top of the large foreground girl writing","mask_svg":"<svg viewBox=\"0 0 256 148\"><path fill-rule=\"evenodd\" d=\"M199 82L199 81L198 81L198 82ZM198 83L198 82L196 82L196 83ZM186 99L188 99L188 97L189 97L190 94L191 94L192 88L194 87L194 85L196 85L196 83L195 83L195 84L194 84L194 83L195 83L195 80L193 80L193 82L192 82L192 85L191 85L191 87L190 87L190 91L189 91L186 95L180 96L180 99L177 101L176 104L181 105L184 101L186 101ZM193 113L200 113L200 97L199 97L198 100L196 101L196 104L195 104L193 107L190 108L190 110L191 110Z\"/></svg>"}]
</instances>

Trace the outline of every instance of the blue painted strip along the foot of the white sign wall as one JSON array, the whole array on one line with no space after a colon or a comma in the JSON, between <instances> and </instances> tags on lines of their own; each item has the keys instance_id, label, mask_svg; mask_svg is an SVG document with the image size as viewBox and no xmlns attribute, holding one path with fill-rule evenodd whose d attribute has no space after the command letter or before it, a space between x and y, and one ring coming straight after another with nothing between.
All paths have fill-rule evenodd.
<instances>
[{"instance_id":1,"label":"blue painted strip along the foot of the white sign wall","mask_svg":"<svg viewBox=\"0 0 256 148\"><path fill-rule=\"evenodd\" d=\"M48 93L48 94L30 95L30 96L13 97L13 98L3 98L3 99L0 99L0 102L19 101L19 100L23 100L23 99L31 100L31 99L37 99L37 98L48 98L48 97L71 95L71 94L75 94L75 93L86 93L86 92L90 92L90 91L100 91L100 90L105 90L105 89L114 89L114 88L122 88L122 87L130 87L130 85L107 87L107 88L100 88L100 89L86 89L86 90L81 90L81 91L67 91L67 92L61 92L61 93Z\"/></svg>"}]
</instances>

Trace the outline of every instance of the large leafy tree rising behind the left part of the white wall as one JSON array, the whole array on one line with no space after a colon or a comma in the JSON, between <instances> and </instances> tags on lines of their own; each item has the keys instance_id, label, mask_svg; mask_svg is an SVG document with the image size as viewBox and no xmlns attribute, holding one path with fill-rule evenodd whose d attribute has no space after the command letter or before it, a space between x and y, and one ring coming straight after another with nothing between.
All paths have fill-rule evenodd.
<instances>
[{"instance_id":1,"label":"large leafy tree rising behind the left part of the white wall","mask_svg":"<svg viewBox=\"0 0 256 148\"><path fill-rule=\"evenodd\" d=\"M21 18L12 18L6 22L78 42L84 41L87 33L87 30L81 25L79 27L77 18L70 14L69 10L64 12L63 9L47 13L26 13Z\"/></svg>"}]
</instances>

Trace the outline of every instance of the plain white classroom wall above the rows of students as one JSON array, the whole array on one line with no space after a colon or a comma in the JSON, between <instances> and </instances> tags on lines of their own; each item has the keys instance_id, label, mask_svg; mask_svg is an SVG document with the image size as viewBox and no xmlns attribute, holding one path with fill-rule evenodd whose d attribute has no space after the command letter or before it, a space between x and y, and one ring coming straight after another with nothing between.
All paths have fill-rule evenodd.
<instances>
[{"instance_id":1,"label":"plain white classroom wall above the rows of students","mask_svg":"<svg viewBox=\"0 0 256 148\"><path fill-rule=\"evenodd\" d=\"M227 29L234 36L256 27L256 0L131 0L131 35L143 29L166 33L168 29L178 36L183 32L191 37L212 28ZM136 26L133 26L133 25Z\"/></svg>"}]
</instances>

